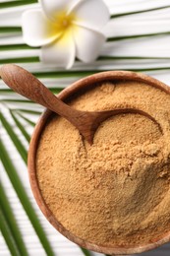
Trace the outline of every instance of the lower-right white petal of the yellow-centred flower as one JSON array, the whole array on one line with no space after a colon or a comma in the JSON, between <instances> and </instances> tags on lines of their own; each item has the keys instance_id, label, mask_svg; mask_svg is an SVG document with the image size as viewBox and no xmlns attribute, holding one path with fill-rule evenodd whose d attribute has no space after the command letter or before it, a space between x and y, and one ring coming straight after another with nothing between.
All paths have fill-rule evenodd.
<instances>
[{"instance_id":1,"label":"lower-right white petal of the yellow-centred flower","mask_svg":"<svg viewBox=\"0 0 170 256\"><path fill-rule=\"evenodd\" d=\"M102 33L79 26L74 28L74 39L76 43L76 56L86 63L96 59L105 42L105 36Z\"/></svg>"}]
</instances>

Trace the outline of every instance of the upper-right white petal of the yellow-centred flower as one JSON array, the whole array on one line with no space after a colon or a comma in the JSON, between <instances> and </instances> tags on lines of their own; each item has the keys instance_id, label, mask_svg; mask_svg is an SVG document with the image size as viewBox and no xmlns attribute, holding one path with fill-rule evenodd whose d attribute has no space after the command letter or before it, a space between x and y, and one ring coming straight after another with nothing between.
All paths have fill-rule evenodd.
<instances>
[{"instance_id":1,"label":"upper-right white petal of the yellow-centred flower","mask_svg":"<svg viewBox=\"0 0 170 256\"><path fill-rule=\"evenodd\" d=\"M110 18L109 10L102 0L86 0L74 8L76 23L97 30L104 27Z\"/></svg>"}]
</instances>

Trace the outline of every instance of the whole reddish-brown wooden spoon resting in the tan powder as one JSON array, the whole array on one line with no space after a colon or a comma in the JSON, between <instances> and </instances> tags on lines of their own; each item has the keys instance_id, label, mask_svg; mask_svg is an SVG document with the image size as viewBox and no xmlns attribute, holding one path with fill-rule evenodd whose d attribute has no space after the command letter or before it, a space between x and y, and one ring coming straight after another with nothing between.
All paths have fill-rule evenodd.
<instances>
[{"instance_id":1,"label":"whole reddish-brown wooden spoon resting in the tan powder","mask_svg":"<svg viewBox=\"0 0 170 256\"><path fill-rule=\"evenodd\" d=\"M140 109L135 108L119 108L107 111L80 111L74 109L54 96L39 80L31 75L27 70L14 65L6 64L0 69L0 76L2 80L16 93L26 96L29 99L39 103L57 114L65 117L70 121L85 140L91 145L93 136L99 124L112 115L120 113L140 113L155 121L153 117Z\"/></svg>"}]
</instances>

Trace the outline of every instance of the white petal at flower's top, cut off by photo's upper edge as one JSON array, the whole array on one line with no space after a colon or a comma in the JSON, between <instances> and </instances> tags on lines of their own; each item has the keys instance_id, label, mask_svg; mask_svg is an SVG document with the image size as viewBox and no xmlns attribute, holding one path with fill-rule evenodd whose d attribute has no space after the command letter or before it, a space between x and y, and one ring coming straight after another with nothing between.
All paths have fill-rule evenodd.
<instances>
[{"instance_id":1,"label":"white petal at flower's top, cut off by photo's upper edge","mask_svg":"<svg viewBox=\"0 0 170 256\"><path fill-rule=\"evenodd\" d=\"M40 0L42 9L48 19L57 22L57 16L68 14L80 0Z\"/></svg>"}]
</instances>

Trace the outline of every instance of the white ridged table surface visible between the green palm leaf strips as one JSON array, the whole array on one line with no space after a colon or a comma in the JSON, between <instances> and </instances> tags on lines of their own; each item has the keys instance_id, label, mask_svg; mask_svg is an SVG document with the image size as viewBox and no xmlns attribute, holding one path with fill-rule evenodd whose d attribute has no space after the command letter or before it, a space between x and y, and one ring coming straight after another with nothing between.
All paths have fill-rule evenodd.
<instances>
[{"instance_id":1,"label":"white ridged table surface visible between the green palm leaf strips","mask_svg":"<svg viewBox=\"0 0 170 256\"><path fill-rule=\"evenodd\" d=\"M8 0L7 0L8 1ZM0 4L7 2L5 0L0 0ZM107 41L103 47L102 54L104 56L119 57L115 60L98 60L90 65L85 65L75 63L71 71L82 71L82 70L109 70L109 69L126 69L126 70L137 70L142 71L158 80L170 85L170 0L105 0L109 7L110 13L115 15L115 18L110 20L108 23L105 34L107 37L116 37L113 41ZM28 8L37 7L38 4L31 4L18 7L9 7L0 9L0 28L1 27L20 27L21 26L21 14ZM158 9L150 10L148 9ZM166 7L166 8L165 8ZM144 10L146 12L144 12ZM141 12L142 11L142 12ZM118 14L134 13L131 15L122 15L116 18ZM0 29L1 30L1 29ZM168 33L169 32L169 33ZM145 36L142 36L147 34ZM152 34L149 35L148 34ZM134 36L135 35L135 36ZM125 37L122 38L121 37ZM21 32L0 32L0 47L2 45L13 45L24 43ZM38 56L39 49L18 49L18 50L2 50L0 48L0 63L7 61L9 59L16 59ZM121 58L122 57L122 58ZM140 58L139 58L140 57ZM56 68L52 65L44 65L39 62L22 62L19 65L28 69L28 71L33 73L39 72L50 72L55 71ZM49 88L65 88L72 84L74 81L78 80L82 75L74 75L72 77L41 77L41 81L47 85ZM5 116L6 120L10 123L14 132L17 134L18 138L28 150L28 141L22 134L21 130L16 125L14 119L11 117L11 112L9 109L16 111L16 115L25 127L28 135L31 135L33 127L28 124L28 120L36 122L39 117L39 112L42 112L43 108L37 104L32 104L30 102L23 102L22 96L17 96L14 93L5 91L6 86L0 80L0 108L2 114ZM2 91L1 91L2 90ZM20 101L15 101L15 100ZM19 114L19 109L27 110L32 109L37 111L35 114L30 114L27 111L23 111L22 115ZM71 241L67 240L64 236L58 233L43 217L35 201L32 197L29 183L28 183L28 173L27 166L22 160L20 154L16 150L12 140L7 133L7 130L2 124L0 124L0 135L4 142L8 153L16 166L21 180L28 193L28 198L35 209L37 216L47 233L49 241L55 251L55 254L60 255L71 255L71 256L81 256L83 255L81 249ZM14 210L18 224L21 227L21 231L28 247L28 253L30 256L36 255L46 255L42 249L41 244L28 221L28 217L13 189L13 186L6 174L2 162L0 162L0 178L1 182L5 187L6 193L8 195L9 201ZM11 255L4 238L0 235L0 255L8 256ZM91 253L91 255L101 255L97 253ZM169 256L170 255L170 244L166 244L159 247L156 250L142 253L145 256Z\"/></svg>"}]
</instances>

